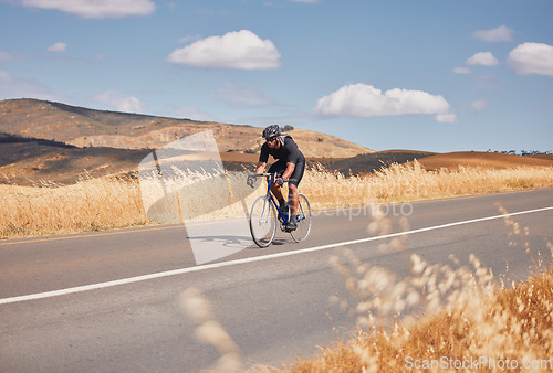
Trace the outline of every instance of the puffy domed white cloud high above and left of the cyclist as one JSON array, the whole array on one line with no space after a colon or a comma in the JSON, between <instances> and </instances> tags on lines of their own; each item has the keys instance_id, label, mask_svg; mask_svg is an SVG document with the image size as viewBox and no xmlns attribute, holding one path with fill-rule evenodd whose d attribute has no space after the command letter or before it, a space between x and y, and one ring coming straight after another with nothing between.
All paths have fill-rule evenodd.
<instances>
[{"instance_id":1,"label":"puffy domed white cloud high above and left of the cyclist","mask_svg":"<svg viewBox=\"0 0 553 373\"><path fill-rule=\"evenodd\" d=\"M280 66L281 54L270 40L249 30L210 36L175 50L167 61L194 67L261 70Z\"/></svg>"}]
</instances>

